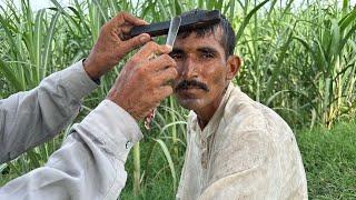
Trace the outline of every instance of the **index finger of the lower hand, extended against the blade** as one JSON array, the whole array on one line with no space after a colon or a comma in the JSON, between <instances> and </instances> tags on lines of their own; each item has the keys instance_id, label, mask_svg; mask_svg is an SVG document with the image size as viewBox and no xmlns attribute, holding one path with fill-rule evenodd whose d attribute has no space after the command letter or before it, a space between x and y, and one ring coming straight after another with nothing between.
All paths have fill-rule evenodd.
<instances>
[{"instance_id":1,"label":"index finger of the lower hand, extended against the blade","mask_svg":"<svg viewBox=\"0 0 356 200\"><path fill-rule=\"evenodd\" d=\"M156 42L147 42L132 58L134 59L150 59L154 54L165 54L171 51L170 46L160 46Z\"/></svg>"}]
</instances>

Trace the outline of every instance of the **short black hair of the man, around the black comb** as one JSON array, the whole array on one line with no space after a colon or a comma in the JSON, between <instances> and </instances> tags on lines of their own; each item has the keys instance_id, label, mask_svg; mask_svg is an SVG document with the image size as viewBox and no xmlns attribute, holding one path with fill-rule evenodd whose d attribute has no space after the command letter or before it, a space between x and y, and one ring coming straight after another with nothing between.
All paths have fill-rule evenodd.
<instances>
[{"instance_id":1,"label":"short black hair of the man, around the black comb","mask_svg":"<svg viewBox=\"0 0 356 200\"><path fill-rule=\"evenodd\" d=\"M204 14L206 12L209 12L208 10L201 10L201 9L194 9L187 12L181 13L181 17L192 17L194 14ZM225 50L226 58L234 54L234 49L236 46L236 37L235 31L230 24L230 22L226 19L226 17L220 13L220 22L212 24L210 27L205 28L198 28L190 31L185 31L179 33L179 38L187 38L191 32L196 32L197 37L205 37L208 33L214 33L217 28L221 28L222 36L220 43Z\"/></svg>"}]
</instances>

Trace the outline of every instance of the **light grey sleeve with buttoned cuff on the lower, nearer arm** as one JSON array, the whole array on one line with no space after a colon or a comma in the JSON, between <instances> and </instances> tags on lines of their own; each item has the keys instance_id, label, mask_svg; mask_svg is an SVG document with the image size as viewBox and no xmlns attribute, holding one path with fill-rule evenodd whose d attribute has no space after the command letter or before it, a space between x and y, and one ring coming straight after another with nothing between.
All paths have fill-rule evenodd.
<instances>
[{"instance_id":1,"label":"light grey sleeve with buttoned cuff on the lower, nearer arm","mask_svg":"<svg viewBox=\"0 0 356 200\"><path fill-rule=\"evenodd\" d=\"M140 138L134 118L105 100L73 126L44 167L0 188L0 199L116 199L127 156Z\"/></svg>"}]
</instances>

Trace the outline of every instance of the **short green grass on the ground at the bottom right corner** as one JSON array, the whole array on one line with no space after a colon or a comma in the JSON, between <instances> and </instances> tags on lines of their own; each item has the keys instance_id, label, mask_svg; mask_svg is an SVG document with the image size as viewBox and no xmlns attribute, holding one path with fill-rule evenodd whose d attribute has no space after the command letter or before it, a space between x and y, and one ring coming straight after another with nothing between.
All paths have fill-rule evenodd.
<instances>
[{"instance_id":1,"label":"short green grass on the ground at the bottom right corner","mask_svg":"<svg viewBox=\"0 0 356 200\"><path fill-rule=\"evenodd\" d=\"M356 121L298 132L310 199L356 198Z\"/></svg>"}]
</instances>

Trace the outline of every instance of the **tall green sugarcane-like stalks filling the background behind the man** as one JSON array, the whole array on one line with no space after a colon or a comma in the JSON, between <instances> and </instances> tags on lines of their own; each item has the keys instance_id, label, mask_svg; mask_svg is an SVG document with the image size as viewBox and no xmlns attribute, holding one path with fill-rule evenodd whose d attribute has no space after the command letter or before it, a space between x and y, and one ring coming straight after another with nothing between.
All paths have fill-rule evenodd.
<instances>
[{"instance_id":1,"label":"tall green sugarcane-like stalks filling the background behind the man","mask_svg":"<svg viewBox=\"0 0 356 200\"><path fill-rule=\"evenodd\" d=\"M0 97L34 88L46 76L88 56L100 27L119 11L161 21L202 8L220 10L236 30L235 52L243 57L244 66L234 82L279 112L290 126L332 128L355 114L356 9L347 0L342 4L336 0L305 1L300 6L294 0L73 0L69 7L51 2L51 8L37 12L29 0L21 0L21 8L7 0L0 8ZM164 43L164 38L157 41ZM86 109L76 121L106 97L123 63L86 98ZM186 116L187 110L167 98L152 129L144 131L146 137L134 148L127 166L137 196L160 173L170 174L176 190L186 148ZM43 164L66 131L0 166L0 172L20 176ZM157 159L165 159L165 164L157 166Z\"/></svg>"}]
</instances>

